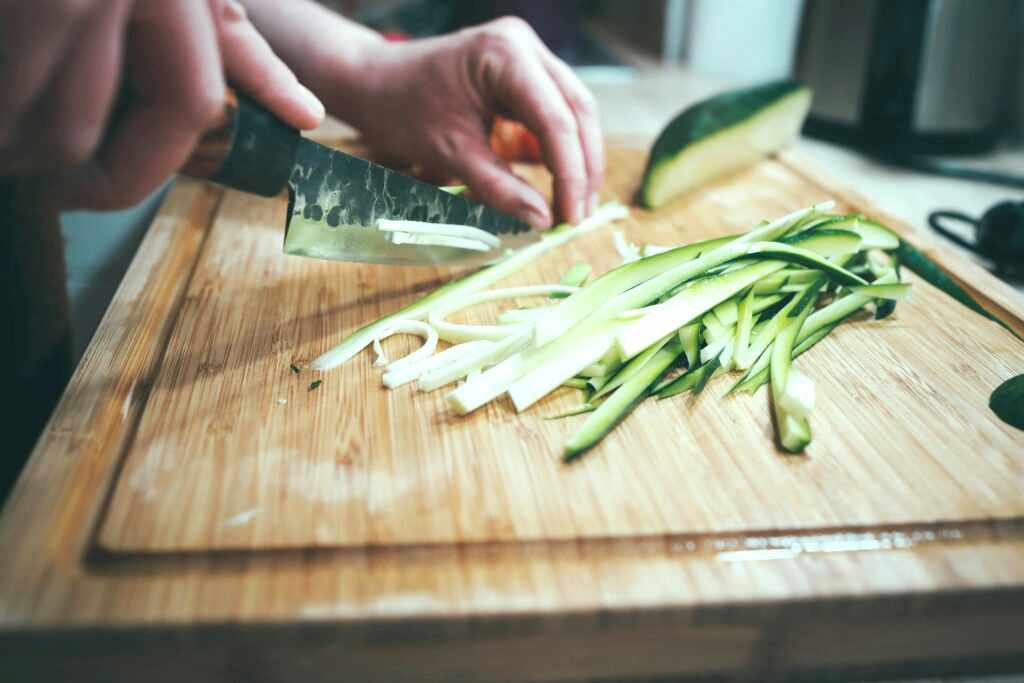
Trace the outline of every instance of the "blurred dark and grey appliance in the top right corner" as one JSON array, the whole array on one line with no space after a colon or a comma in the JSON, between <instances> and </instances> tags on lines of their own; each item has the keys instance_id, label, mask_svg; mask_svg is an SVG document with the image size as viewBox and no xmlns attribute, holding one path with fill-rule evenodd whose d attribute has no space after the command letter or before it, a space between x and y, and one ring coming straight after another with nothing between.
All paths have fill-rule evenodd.
<instances>
[{"instance_id":1,"label":"blurred dark and grey appliance in the top right corner","mask_svg":"<svg viewBox=\"0 0 1024 683\"><path fill-rule=\"evenodd\" d=\"M1009 123L1015 0L807 3L797 77L805 133L900 154L978 154Z\"/></svg>"}]
</instances>

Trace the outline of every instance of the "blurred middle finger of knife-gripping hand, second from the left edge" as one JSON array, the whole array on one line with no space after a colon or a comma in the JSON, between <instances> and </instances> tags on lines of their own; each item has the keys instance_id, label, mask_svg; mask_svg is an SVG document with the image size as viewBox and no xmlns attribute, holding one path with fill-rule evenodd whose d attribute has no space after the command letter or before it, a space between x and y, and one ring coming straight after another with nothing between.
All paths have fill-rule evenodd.
<instances>
[{"instance_id":1,"label":"blurred middle finger of knife-gripping hand, second from the left edge","mask_svg":"<svg viewBox=\"0 0 1024 683\"><path fill-rule=\"evenodd\" d=\"M114 0L80 27L65 67L33 109L24 140L11 152L14 172L78 166L95 152L120 81L127 5Z\"/></svg>"}]
</instances>

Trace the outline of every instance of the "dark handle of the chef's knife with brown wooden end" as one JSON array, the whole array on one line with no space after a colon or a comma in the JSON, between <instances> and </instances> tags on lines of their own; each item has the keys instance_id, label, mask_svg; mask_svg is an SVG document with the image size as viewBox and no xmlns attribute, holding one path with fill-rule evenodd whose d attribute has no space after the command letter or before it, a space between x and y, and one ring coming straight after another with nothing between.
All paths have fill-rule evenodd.
<instances>
[{"instance_id":1,"label":"dark handle of the chef's knife with brown wooden end","mask_svg":"<svg viewBox=\"0 0 1024 683\"><path fill-rule=\"evenodd\" d=\"M292 175L299 131L228 88L224 110L181 171L246 193L274 197Z\"/></svg>"}]
</instances>

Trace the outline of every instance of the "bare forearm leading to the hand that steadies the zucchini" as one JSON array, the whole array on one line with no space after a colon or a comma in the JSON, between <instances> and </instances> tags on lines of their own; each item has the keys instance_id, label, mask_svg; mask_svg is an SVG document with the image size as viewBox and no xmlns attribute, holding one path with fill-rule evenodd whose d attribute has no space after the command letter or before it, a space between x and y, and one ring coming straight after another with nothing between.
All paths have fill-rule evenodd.
<instances>
[{"instance_id":1,"label":"bare forearm leading to the hand that steadies the zucchini","mask_svg":"<svg viewBox=\"0 0 1024 683\"><path fill-rule=\"evenodd\" d=\"M334 116L361 125L361 102L373 87L373 58L387 41L312 0L244 0L274 51Z\"/></svg>"}]
</instances>

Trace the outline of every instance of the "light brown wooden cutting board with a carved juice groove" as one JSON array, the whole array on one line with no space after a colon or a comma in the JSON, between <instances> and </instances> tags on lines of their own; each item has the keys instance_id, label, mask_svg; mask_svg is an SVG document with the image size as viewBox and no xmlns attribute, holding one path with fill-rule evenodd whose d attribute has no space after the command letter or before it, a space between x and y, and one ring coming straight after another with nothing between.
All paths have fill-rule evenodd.
<instances>
[{"instance_id":1,"label":"light brown wooden cutting board with a carved juice groove","mask_svg":"<svg viewBox=\"0 0 1024 683\"><path fill-rule=\"evenodd\" d=\"M607 197L638 159L615 154ZM688 241L828 196L878 213L806 168L784 154L625 229ZM764 396L717 383L565 468L572 425L539 419L565 396L453 420L382 389L365 355L306 391L290 360L443 273L271 259L281 210L171 191L0 517L0 680L1019 663L1022 433L981 387L1024 354L995 326L924 285L892 321L844 326L798 361L822 401L806 459L771 449ZM607 267L609 247L588 238L522 280ZM934 253L1021 325L1019 295Z\"/></svg>"}]
</instances>

